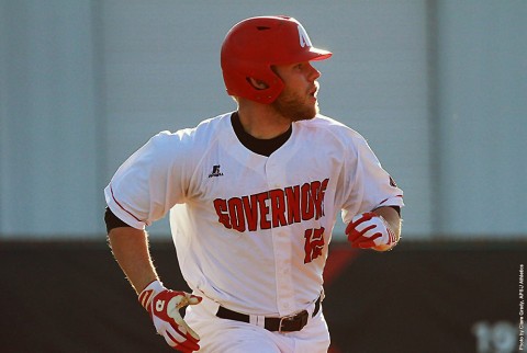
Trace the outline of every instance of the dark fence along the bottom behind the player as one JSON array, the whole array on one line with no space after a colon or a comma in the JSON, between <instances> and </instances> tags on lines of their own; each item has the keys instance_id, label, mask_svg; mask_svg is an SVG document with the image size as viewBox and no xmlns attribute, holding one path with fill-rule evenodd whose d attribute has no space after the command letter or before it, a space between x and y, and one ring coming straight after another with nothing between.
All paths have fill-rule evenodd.
<instances>
[{"instance_id":1,"label":"dark fence along the bottom behind the player","mask_svg":"<svg viewBox=\"0 0 527 353\"><path fill-rule=\"evenodd\" d=\"M173 246L153 253L165 284L187 289ZM336 243L323 304L330 352L518 352L526 261L525 242L406 241L390 253ZM0 278L1 352L171 352L104 240L2 242Z\"/></svg>"}]
</instances>

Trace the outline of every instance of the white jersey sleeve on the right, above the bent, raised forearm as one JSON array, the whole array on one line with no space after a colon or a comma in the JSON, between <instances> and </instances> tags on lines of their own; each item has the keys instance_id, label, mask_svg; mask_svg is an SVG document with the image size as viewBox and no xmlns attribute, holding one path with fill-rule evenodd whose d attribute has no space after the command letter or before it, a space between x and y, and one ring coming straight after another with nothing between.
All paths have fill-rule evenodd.
<instances>
[{"instance_id":1,"label":"white jersey sleeve on the right, above the bent, raised forearm","mask_svg":"<svg viewBox=\"0 0 527 353\"><path fill-rule=\"evenodd\" d=\"M357 134L352 140L354 148L344 169L344 223L348 224L354 216L382 206L403 207L403 191L381 167L366 139Z\"/></svg>"}]
</instances>

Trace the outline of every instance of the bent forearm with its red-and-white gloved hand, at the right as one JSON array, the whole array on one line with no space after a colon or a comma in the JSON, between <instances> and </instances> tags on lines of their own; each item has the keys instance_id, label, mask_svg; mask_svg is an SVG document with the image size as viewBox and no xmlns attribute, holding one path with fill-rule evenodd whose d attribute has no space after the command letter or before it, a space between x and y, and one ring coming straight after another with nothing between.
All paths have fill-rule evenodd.
<instances>
[{"instance_id":1,"label":"bent forearm with its red-and-white gloved hand, at the right","mask_svg":"<svg viewBox=\"0 0 527 353\"><path fill-rule=\"evenodd\" d=\"M384 206L355 216L346 227L351 247L388 251L401 239L399 208Z\"/></svg>"}]
</instances>

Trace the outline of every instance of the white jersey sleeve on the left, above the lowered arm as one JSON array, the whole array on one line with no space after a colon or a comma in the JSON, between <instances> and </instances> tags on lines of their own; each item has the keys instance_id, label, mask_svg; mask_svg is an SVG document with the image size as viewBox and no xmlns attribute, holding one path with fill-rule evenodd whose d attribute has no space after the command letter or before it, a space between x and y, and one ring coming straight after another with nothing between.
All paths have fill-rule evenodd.
<instances>
[{"instance_id":1,"label":"white jersey sleeve on the left, above the lowered arm","mask_svg":"<svg viewBox=\"0 0 527 353\"><path fill-rule=\"evenodd\" d=\"M184 133L162 132L133 153L104 189L110 209L144 229L184 198Z\"/></svg>"}]
</instances>

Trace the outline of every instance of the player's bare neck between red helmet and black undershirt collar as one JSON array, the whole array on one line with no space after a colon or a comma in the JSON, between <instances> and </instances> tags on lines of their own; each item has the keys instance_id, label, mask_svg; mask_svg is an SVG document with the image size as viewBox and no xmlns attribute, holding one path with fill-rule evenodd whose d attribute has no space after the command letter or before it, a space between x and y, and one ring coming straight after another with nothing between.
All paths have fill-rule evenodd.
<instances>
[{"instance_id":1,"label":"player's bare neck between red helmet and black undershirt collar","mask_svg":"<svg viewBox=\"0 0 527 353\"><path fill-rule=\"evenodd\" d=\"M240 104L238 115L244 130L259 139L274 138L291 127L291 119L281 116L266 104Z\"/></svg>"}]
</instances>

